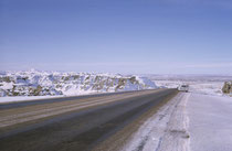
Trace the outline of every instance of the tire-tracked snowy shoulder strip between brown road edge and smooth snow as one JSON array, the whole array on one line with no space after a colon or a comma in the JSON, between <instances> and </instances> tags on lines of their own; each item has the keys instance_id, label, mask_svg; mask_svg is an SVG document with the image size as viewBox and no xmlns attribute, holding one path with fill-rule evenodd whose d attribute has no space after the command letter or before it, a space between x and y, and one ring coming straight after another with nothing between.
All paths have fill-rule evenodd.
<instances>
[{"instance_id":1,"label":"tire-tracked snowy shoulder strip between brown road edge and smooth snow","mask_svg":"<svg viewBox=\"0 0 232 151\"><path fill-rule=\"evenodd\" d=\"M188 151L186 105L190 94L178 94L134 133L124 151Z\"/></svg>"}]
</instances>

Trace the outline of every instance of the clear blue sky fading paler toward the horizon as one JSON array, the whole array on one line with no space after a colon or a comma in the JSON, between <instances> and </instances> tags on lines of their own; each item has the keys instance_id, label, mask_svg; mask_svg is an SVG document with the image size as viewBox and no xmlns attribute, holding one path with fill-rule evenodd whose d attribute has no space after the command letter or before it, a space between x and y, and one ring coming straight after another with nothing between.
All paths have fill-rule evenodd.
<instances>
[{"instance_id":1,"label":"clear blue sky fading paler toward the horizon","mask_svg":"<svg viewBox=\"0 0 232 151\"><path fill-rule=\"evenodd\" d=\"M1 0L0 71L232 74L231 0Z\"/></svg>"}]
</instances>

